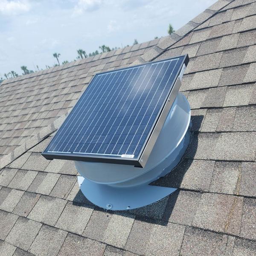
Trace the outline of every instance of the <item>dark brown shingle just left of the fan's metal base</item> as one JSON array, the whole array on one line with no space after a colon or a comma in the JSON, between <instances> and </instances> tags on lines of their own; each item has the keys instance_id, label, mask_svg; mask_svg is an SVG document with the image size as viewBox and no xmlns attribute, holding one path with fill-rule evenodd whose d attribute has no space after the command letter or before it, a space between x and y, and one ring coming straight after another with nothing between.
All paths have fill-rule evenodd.
<instances>
[{"instance_id":1,"label":"dark brown shingle just left of the fan's metal base","mask_svg":"<svg viewBox=\"0 0 256 256\"><path fill-rule=\"evenodd\" d=\"M50 196L66 199L76 182L76 177L61 175L55 184Z\"/></svg>"}]
</instances>

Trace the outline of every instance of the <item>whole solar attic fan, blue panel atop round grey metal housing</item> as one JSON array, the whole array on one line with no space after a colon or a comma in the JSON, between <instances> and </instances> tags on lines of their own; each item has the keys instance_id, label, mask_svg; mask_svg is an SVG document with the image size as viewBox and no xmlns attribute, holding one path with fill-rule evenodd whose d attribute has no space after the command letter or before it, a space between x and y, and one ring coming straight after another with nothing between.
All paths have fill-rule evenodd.
<instances>
[{"instance_id":1,"label":"whole solar attic fan, blue panel atop round grey metal housing","mask_svg":"<svg viewBox=\"0 0 256 256\"><path fill-rule=\"evenodd\" d=\"M175 188L148 185L169 173L190 141L190 107L179 92L188 55L96 74L42 155L74 160L93 204L124 210Z\"/></svg>"}]
</instances>

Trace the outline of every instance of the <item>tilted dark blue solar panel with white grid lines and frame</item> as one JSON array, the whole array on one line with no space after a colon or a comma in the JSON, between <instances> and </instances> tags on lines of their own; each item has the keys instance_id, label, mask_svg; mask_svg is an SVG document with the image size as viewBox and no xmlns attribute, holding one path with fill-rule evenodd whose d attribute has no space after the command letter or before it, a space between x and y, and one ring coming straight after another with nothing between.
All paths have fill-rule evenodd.
<instances>
[{"instance_id":1,"label":"tilted dark blue solar panel with white grid lines and frame","mask_svg":"<svg viewBox=\"0 0 256 256\"><path fill-rule=\"evenodd\" d=\"M96 74L42 155L145 166L156 125L172 94L174 101L175 82L188 61L183 55Z\"/></svg>"}]
</instances>

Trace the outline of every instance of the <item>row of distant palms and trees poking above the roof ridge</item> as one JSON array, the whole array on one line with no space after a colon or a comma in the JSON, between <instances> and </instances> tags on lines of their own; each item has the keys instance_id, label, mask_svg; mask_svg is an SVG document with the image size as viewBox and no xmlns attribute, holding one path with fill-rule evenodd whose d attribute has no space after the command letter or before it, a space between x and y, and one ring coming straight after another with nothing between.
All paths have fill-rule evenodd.
<instances>
[{"instance_id":1,"label":"row of distant palms and trees poking above the roof ridge","mask_svg":"<svg viewBox=\"0 0 256 256\"><path fill-rule=\"evenodd\" d=\"M168 34L171 35L173 32L175 32L175 30L173 29L172 25L169 24ZM157 38L158 37L155 37L154 39L157 39ZM134 39L133 45L134 44L139 44L137 39ZM128 46L129 45L127 45L127 47ZM78 49L78 50L76 50L78 56L76 57L76 59L74 59L74 61L77 61L77 60L80 60L80 59L83 59L83 58L87 58L87 57L90 57L90 56L95 56L95 55L101 54L103 52L110 52L110 51L113 51L115 49L119 49L119 48L118 47L110 48L110 47L106 46L105 44L103 44L102 46L99 46L100 52L98 50L96 50L95 52L90 52L88 55L83 49ZM60 65L60 60L59 60L60 56L61 56L60 53L57 53L57 52L53 53L53 57L56 58L56 60L58 62L58 64L54 64L53 67L56 67L56 66ZM66 64L68 62L69 61L65 60L65 61L62 61L61 64L63 65L63 64ZM36 65L36 67L37 67L38 70L35 70L35 71L34 70L28 70L28 68L26 66L21 66L20 69L23 71L22 75L26 75L26 74L29 74L29 73L34 73L36 71L40 71L38 65ZM45 65L45 67L47 69L50 68L49 65ZM41 70L43 70L43 69L41 68ZM17 76L19 76L19 75L13 70L10 71L9 73L4 73L4 77L6 79L15 78ZM0 78L0 82L1 82L1 80L3 80L2 77Z\"/></svg>"}]
</instances>

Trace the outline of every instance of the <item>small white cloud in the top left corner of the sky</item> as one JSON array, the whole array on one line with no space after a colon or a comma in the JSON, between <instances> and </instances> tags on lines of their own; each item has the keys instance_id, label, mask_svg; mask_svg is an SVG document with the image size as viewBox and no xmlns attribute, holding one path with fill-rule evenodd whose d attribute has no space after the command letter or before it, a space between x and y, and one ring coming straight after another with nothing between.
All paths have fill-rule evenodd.
<instances>
[{"instance_id":1,"label":"small white cloud in the top left corner of the sky","mask_svg":"<svg viewBox=\"0 0 256 256\"><path fill-rule=\"evenodd\" d=\"M16 15L22 12L28 12L31 5L27 0L0 0L0 12L4 15Z\"/></svg>"}]
</instances>

